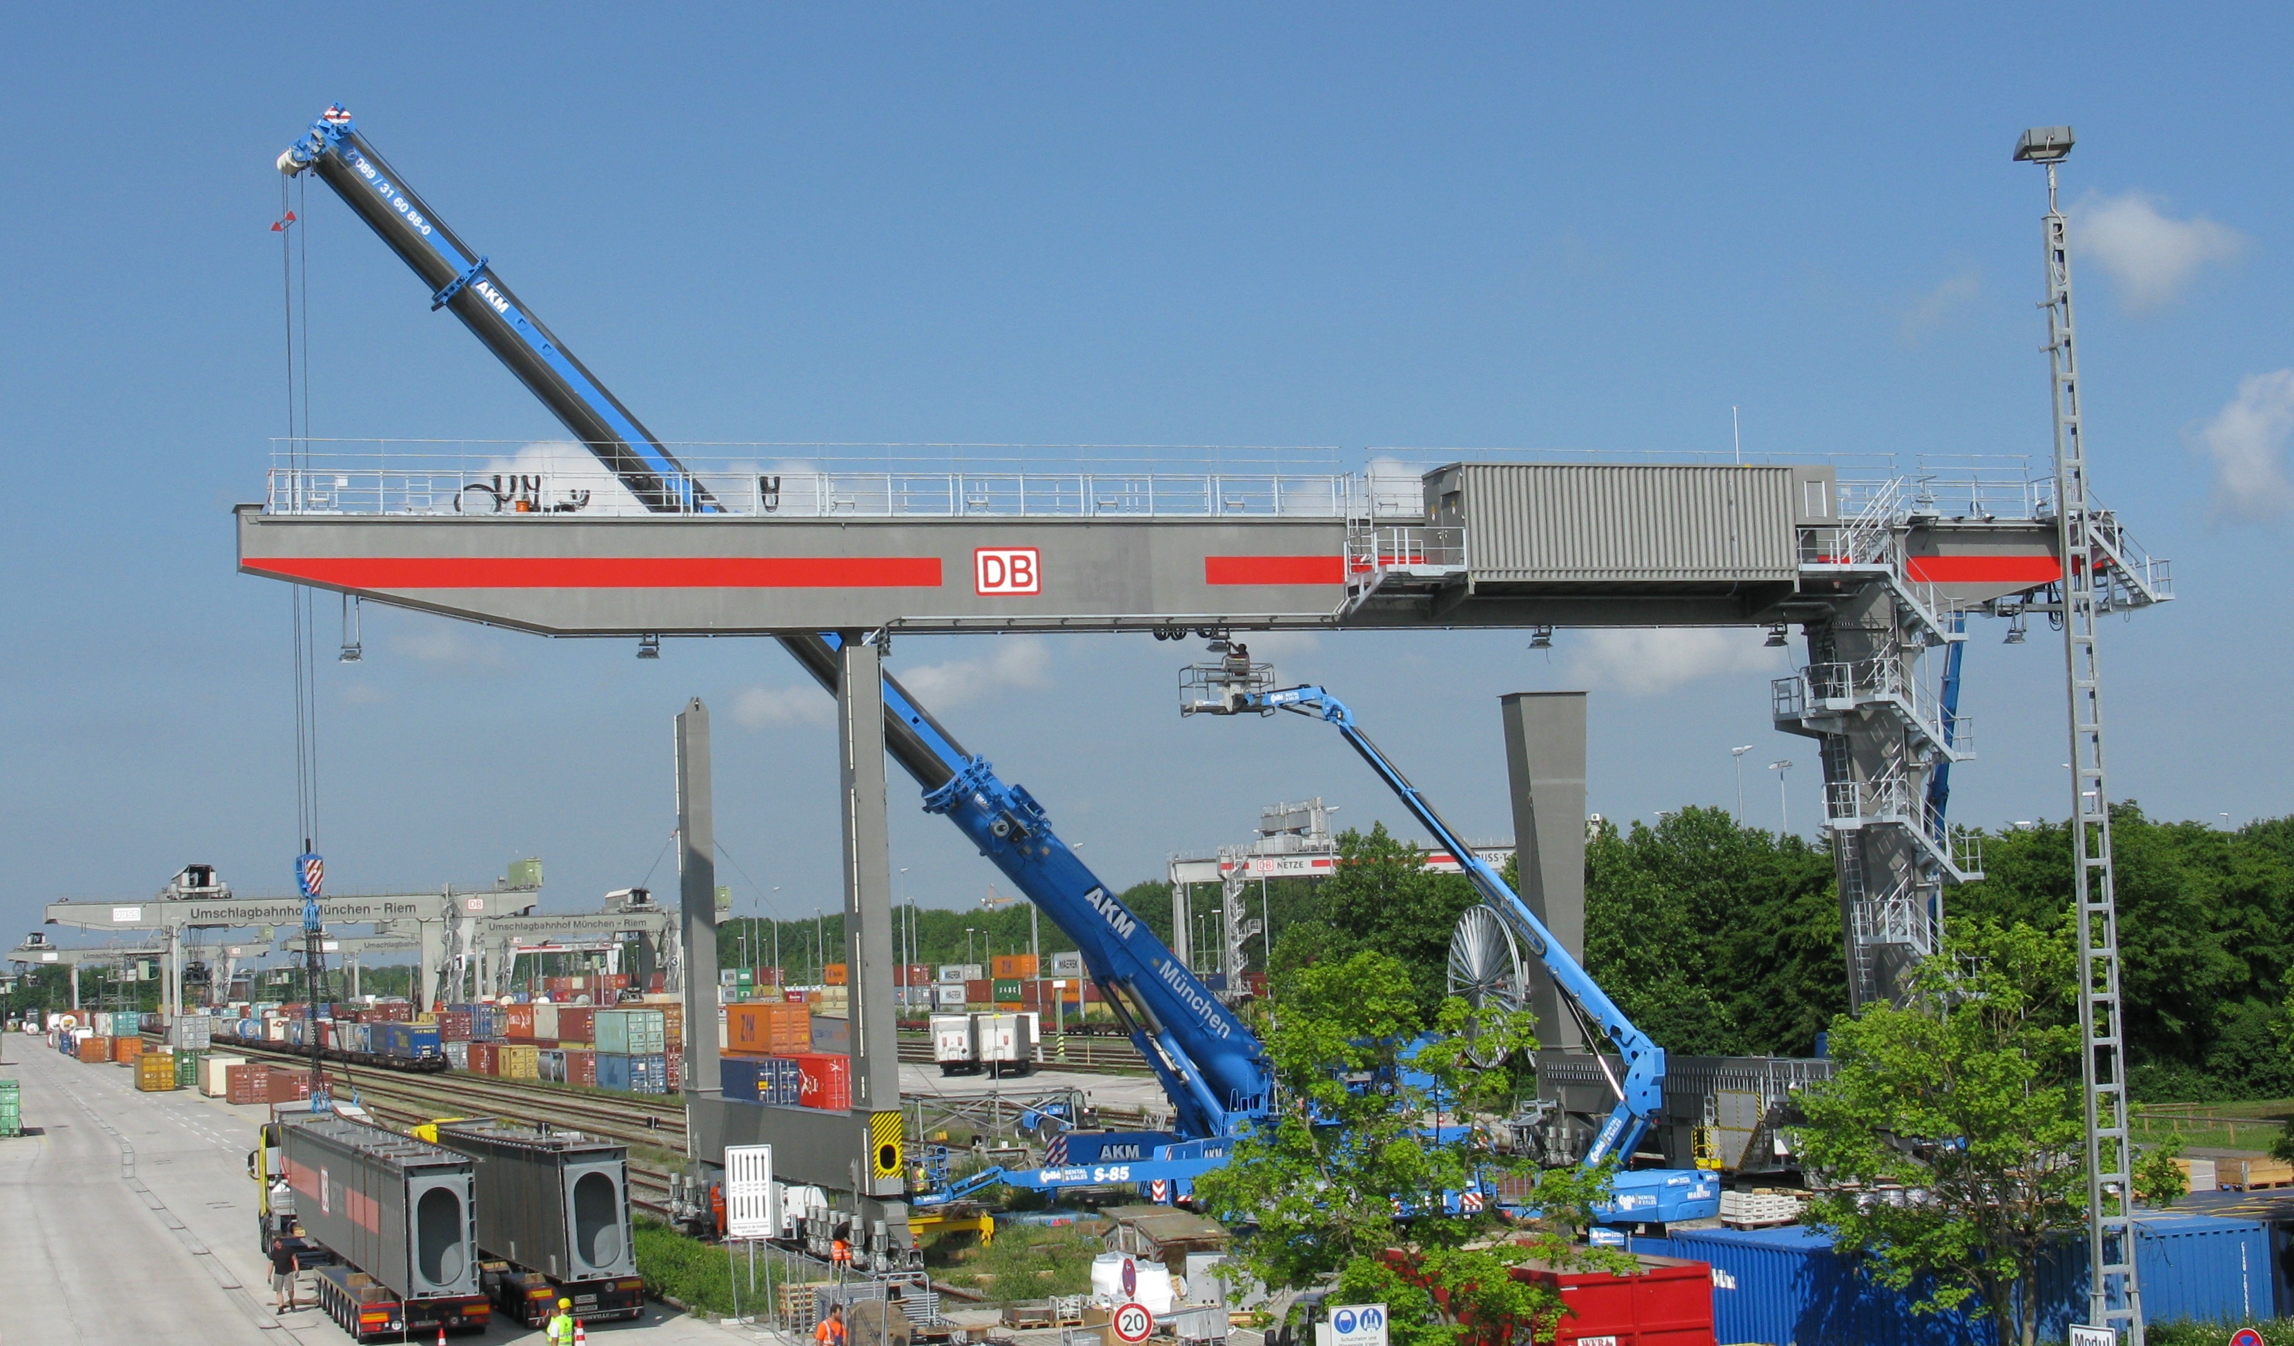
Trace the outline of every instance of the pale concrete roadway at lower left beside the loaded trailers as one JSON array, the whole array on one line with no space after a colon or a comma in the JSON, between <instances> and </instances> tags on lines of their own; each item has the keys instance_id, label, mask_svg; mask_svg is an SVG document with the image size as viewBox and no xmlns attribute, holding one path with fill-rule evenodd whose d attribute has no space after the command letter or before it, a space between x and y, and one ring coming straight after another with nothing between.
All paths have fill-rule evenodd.
<instances>
[{"instance_id":1,"label":"pale concrete roadway at lower left beside the loaded trailers","mask_svg":"<svg viewBox=\"0 0 2294 1346\"><path fill-rule=\"evenodd\" d=\"M0 1075L21 1080L28 1130L0 1140L0 1266L9 1268L0 1277L0 1341L349 1341L314 1309L271 1312L248 1179L255 1126L268 1110L190 1089L138 1094L128 1066L83 1066L25 1034L0 1036ZM592 1325L590 1337L757 1341L658 1305L638 1323ZM454 1341L541 1339L539 1330L496 1323L486 1337Z\"/></svg>"}]
</instances>

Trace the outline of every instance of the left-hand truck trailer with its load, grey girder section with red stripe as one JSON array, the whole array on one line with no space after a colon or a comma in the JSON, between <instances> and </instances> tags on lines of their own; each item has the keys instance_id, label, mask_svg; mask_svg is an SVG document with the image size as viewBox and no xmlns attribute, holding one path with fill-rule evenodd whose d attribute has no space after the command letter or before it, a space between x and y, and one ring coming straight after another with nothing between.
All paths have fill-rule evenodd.
<instances>
[{"instance_id":1,"label":"left-hand truck trailer with its load, grey girder section with red stripe","mask_svg":"<svg viewBox=\"0 0 2294 1346\"><path fill-rule=\"evenodd\" d=\"M356 1341L484 1332L468 1156L344 1117L284 1117L287 1185L321 1268L319 1305Z\"/></svg>"}]
</instances>

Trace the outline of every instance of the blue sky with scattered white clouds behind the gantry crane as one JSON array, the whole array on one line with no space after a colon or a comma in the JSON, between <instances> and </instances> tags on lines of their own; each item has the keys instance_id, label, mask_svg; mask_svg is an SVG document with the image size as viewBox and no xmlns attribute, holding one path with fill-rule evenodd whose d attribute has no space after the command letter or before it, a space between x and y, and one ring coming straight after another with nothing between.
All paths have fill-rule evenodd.
<instances>
[{"instance_id":1,"label":"blue sky with scattered white clouds behind the gantry crane","mask_svg":"<svg viewBox=\"0 0 2294 1346\"><path fill-rule=\"evenodd\" d=\"M2097 484L2182 598L2108 633L2113 791L2294 809L2287 16L1876 7L9 7L0 11L0 917L248 892L296 851L287 589L229 504L284 424L278 151L344 101L670 440L2046 454L2042 181L2069 122ZM2062 37L2049 41L2049 32ZM312 429L555 424L314 193ZM333 635L333 603L321 603ZM1980 628L1954 814L2062 816L2060 644ZM743 910L837 901L826 699L752 642L546 642L372 610L319 670L342 890L551 906L647 874L670 715L718 711ZM1592 688L1592 807L1817 816L1757 637L1289 642L1475 835L1496 697ZM1110 883L1257 805L1397 819L1305 722L1181 722L1145 637L904 640L895 670ZM996 874L895 782L922 901ZM668 862L654 881L668 878Z\"/></svg>"}]
</instances>

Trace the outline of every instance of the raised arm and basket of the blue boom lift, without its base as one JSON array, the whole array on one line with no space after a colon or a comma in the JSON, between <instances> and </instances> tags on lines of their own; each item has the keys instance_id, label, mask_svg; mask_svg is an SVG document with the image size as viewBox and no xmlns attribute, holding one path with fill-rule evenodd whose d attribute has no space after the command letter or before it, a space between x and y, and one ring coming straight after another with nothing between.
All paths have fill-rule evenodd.
<instances>
[{"instance_id":1,"label":"raised arm and basket of the blue boom lift, without its base","mask_svg":"<svg viewBox=\"0 0 2294 1346\"><path fill-rule=\"evenodd\" d=\"M1246 667L1250 672L1246 672ZM1649 1034L1633 1027L1633 1020L1617 1009L1617 1002L1608 997L1606 991L1569 956L1569 949L1560 947L1553 933L1546 929L1537 913L1530 910L1521 897L1507 887L1505 878L1489 867L1487 860L1473 853L1473 846L1464 837L1450 830L1450 823L1434 812L1425 793L1402 768L1392 764L1379 745L1363 734L1360 725L1353 722L1353 711L1344 706L1331 692L1317 686L1298 686L1282 690L1257 690L1253 686L1255 674L1264 672L1269 665L1248 665L1248 658L1239 658L1234 665L1216 665L1211 686L1220 690L1216 699L1195 702L1184 706L1184 713L1214 713L1214 715L1241 715L1241 713L1271 713L1292 711L1296 715L1312 715L1328 725L1335 725L1347 743L1370 764L1370 770L1379 773L1397 796L1402 805L1411 809L1418 823L1434 832L1434 842L1445 846L1457 855L1459 867L1473 883L1482 901L1489 903L1498 919L1514 931L1514 936L1530 947L1553 981L1569 993L1585 1016L1601 1027L1601 1034L1617 1048L1620 1059L1624 1059L1624 1080L1617 1085L1617 1105L1610 1110L1601 1130L1594 1133L1592 1147L1585 1151L1585 1167L1597 1167L1601 1160L1617 1156L1620 1160L1631 1160L1633 1149L1640 1137L1649 1130L1649 1119L1656 1117L1665 1101L1665 1050L1649 1041ZM1232 679L1220 681L1218 672L1232 670ZM1271 681L1271 674L1266 674ZM1259 683L1264 686L1264 683Z\"/></svg>"}]
</instances>

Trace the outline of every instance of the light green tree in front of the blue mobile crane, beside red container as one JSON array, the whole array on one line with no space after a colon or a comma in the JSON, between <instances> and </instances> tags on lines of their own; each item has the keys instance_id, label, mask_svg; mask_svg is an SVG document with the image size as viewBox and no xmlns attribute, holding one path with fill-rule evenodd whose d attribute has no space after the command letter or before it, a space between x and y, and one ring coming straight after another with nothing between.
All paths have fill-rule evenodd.
<instances>
[{"instance_id":1,"label":"light green tree in front of the blue mobile crane, beside red container","mask_svg":"<svg viewBox=\"0 0 2294 1346\"><path fill-rule=\"evenodd\" d=\"M1606 1169L1537 1174L1544 1220L1528 1243L1489 1245L1503 1231L1496 1202L1445 1211L1443 1197L1475 1181L1528 1176L1526 1160L1491 1151L1484 1128L1459 1126L1507 1112L1528 1080L1519 1064L1473 1066L1468 1014L1461 1000L1420 1009L1411 970L1376 949L1278 975L1264 1041L1285 1108L1195 1185L1204 1208L1236 1224L1234 1259L1253 1277L1269 1289L1335 1277L1344 1296L1388 1302L1397 1346L1450 1346L1468 1325L1544 1332L1558 1321L1558 1291L1509 1275L1528 1257L1631 1266L1574 1243L1606 1199ZM1473 1027L1482 1043L1516 1048L1509 1062L1535 1048L1526 1014Z\"/></svg>"}]
</instances>

